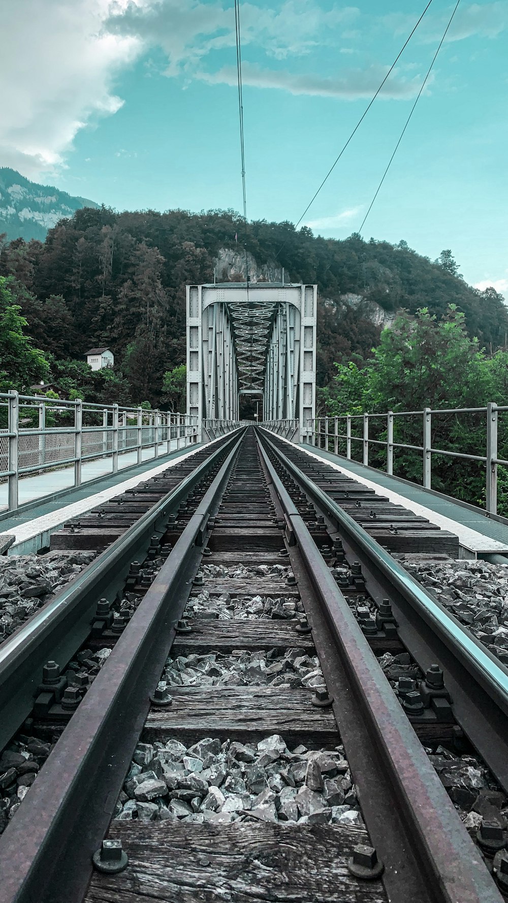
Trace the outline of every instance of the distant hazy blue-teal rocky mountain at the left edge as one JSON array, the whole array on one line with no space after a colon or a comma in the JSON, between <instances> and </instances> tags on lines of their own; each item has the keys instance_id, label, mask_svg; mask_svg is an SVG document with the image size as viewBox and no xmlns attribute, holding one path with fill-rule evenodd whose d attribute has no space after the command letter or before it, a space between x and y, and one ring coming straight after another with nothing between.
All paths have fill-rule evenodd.
<instances>
[{"instance_id":1,"label":"distant hazy blue-teal rocky mountain at the left edge","mask_svg":"<svg viewBox=\"0 0 508 903\"><path fill-rule=\"evenodd\" d=\"M44 241L48 229L62 217L71 217L83 207L99 208L93 200L73 198L52 185L30 182L20 172L0 166L0 235L7 239L38 238Z\"/></svg>"}]
</instances>

